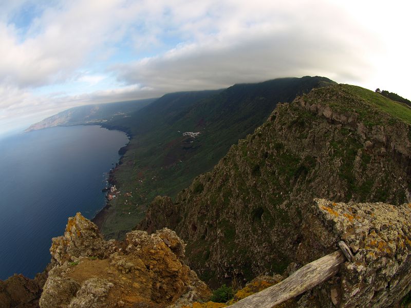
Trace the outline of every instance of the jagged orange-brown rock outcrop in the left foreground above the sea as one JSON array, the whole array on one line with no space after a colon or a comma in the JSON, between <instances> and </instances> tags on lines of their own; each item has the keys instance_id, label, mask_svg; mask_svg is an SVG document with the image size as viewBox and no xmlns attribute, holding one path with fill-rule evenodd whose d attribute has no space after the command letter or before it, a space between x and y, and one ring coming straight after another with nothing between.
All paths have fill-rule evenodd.
<instances>
[{"instance_id":1,"label":"jagged orange-brown rock outcrop in the left foreground above the sea","mask_svg":"<svg viewBox=\"0 0 411 308\"><path fill-rule=\"evenodd\" d=\"M165 307L210 296L206 284L182 261L185 244L164 228L133 231L124 242L104 241L78 213L64 236L53 238L52 265L40 307Z\"/></svg>"}]
</instances>

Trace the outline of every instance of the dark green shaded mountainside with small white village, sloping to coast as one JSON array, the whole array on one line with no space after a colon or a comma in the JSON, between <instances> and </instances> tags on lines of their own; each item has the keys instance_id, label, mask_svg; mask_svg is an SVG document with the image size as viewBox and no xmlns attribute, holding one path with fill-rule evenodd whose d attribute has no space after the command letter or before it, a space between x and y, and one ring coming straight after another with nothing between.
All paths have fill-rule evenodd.
<instances>
[{"instance_id":1,"label":"dark green shaded mountainside with small white village, sloping to coast","mask_svg":"<svg viewBox=\"0 0 411 308\"><path fill-rule=\"evenodd\" d=\"M146 206L155 196L175 196L197 175L210 170L232 144L263 123L278 102L291 102L298 94L331 84L318 76L276 79L234 85L185 104L187 107L178 112L174 103L166 112L162 107L174 101L176 94L164 95L141 109L136 119L144 112L151 129L134 130L121 165L115 169L114 182L123 194L111 202L105 221L99 223L103 234L121 238L144 217ZM157 115L155 109L163 115ZM162 121L158 121L160 118ZM139 123L136 120L135 127Z\"/></svg>"}]
</instances>

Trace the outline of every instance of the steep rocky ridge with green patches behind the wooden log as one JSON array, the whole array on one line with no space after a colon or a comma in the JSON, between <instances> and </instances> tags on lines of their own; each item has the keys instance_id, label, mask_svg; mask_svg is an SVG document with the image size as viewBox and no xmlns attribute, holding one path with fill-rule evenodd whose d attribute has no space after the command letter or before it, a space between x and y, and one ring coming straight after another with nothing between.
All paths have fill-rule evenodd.
<instances>
[{"instance_id":1,"label":"steep rocky ridge with green patches behind the wooden log","mask_svg":"<svg viewBox=\"0 0 411 308\"><path fill-rule=\"evenodd\" d=\"M281 273L304 251L313 198L411 201L410 117L408 107L360 87L313 89L278 105L174 202L157 197L139 227L175 229L206 281Z\"/></svg>"}]
</instances>

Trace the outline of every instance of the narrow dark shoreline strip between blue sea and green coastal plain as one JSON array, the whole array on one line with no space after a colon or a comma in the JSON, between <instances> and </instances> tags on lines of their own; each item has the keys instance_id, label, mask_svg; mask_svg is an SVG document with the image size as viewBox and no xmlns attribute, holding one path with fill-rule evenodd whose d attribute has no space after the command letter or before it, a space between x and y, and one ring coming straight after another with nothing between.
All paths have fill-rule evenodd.
<instances>
[{"instance_id":1,"label":"narrow dark shoreline strip between blue sea and green coastal plain","mask_svg":"<svg viewBox=\"0 0 411 308\"><path fill-rule=\"evenodd\" d=\"M114 179L115 170L116 170L118 165L121 165L121 161L123 159L124 154L127 152L127 147L129 145L130 141L132 140L133 135L132 135L132 133L127 131L125 128L122 129L121 127L108 126L108 125L105 126L105 125L102 125L102 124L99 124L99 126L103 127L103 128L106 128L108 130L122 131L126 134L126 136L128 138L127 144L125 146L122 146L118 150L120 158L119 158L118 162L116 163L116 166L114 168L111 168L108 172L107 182L109 184L108 187L111 187L111 186L115 185L115 179ZM90 221L94 222L99 227L100 232L102 232L104 223L105 223L105 221L108 217L109 208L111 207L110 201L107 200L107 194L108 194L108 191L106 191L105 195L104 195L105 205L100 210L97 211L96 215L92 219L90 219Z\"/></svg>"}]
</instances>

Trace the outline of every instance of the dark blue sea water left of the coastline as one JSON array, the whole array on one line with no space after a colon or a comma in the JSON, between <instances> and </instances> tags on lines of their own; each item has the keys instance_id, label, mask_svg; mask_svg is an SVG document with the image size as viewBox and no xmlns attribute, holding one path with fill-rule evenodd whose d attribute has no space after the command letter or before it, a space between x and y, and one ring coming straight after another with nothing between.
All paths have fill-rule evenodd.
<instances>
[{"instance_id":1,"label":"dark blue sea water left of the coastline","mask_svg":"<svg viewBox=\"0 0 411 308\"><path fill-rule=\"evenodd\" d=\"M0 139L0 279L33 278L69 216L105 205L106 172L128 142L99 126L54 127Z\"/></svg>"}]
</instances>

